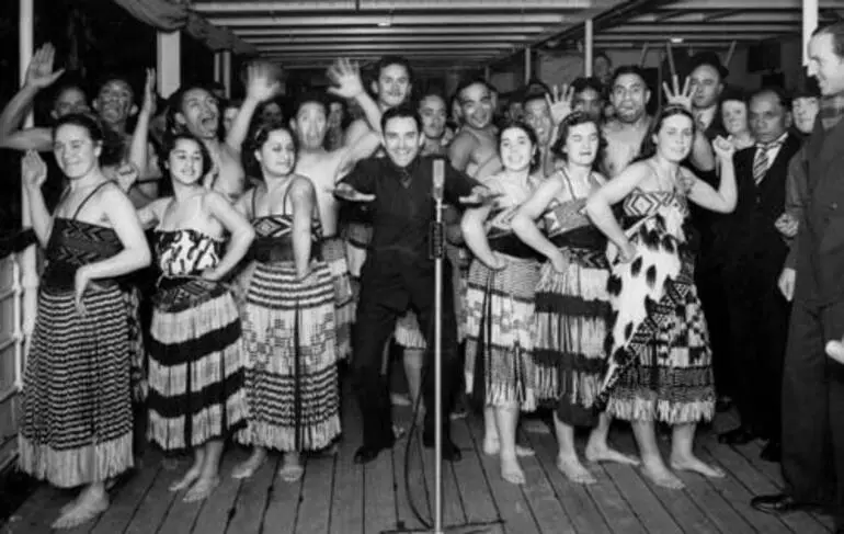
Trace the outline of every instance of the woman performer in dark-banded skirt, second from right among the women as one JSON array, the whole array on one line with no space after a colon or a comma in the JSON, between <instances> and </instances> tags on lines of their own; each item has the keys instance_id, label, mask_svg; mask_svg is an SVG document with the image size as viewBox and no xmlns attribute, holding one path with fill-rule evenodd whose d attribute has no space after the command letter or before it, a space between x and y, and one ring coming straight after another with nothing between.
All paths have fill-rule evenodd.
<instances>
[{"instance_id":1,"label":"woman performer in dark-banded skirt, second from right among the women","mask_svg":"<svg viewBox=\"0 0 844 534\"><path fill-rule=\"evenodd\" d=\"M609 276L606 238L583 212L589 195L604 184L595 172L601 149L597 120L583 112L560 125L554 151L558 170L513 217L513 231L548 258L536 286L534 362L540 401L554 401L559 452L557 468L571 481L593 484L574 448L574 427L595 427L586 445L590 462L638 462L607 445L611 419L598 417L595 399L606 368ZM535 221L545 224L543 235ZM597 425L596 425L597 424Z\"/></svg>"}]
</instances>

